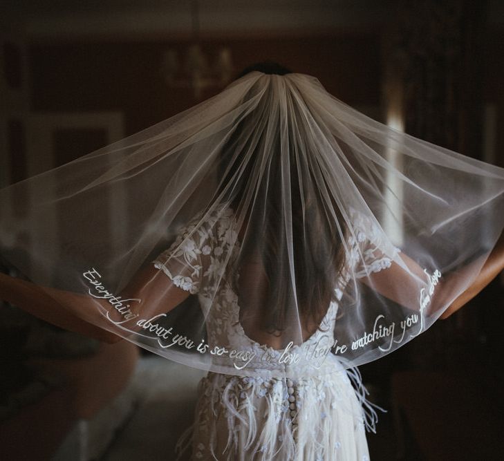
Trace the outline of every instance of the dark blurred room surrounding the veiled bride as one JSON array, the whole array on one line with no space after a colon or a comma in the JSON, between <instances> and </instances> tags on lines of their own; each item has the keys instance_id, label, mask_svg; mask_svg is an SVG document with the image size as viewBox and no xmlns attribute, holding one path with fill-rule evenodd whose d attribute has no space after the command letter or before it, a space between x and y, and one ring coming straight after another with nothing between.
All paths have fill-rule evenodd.
<instances>
[{"instance_id":1,"label":"dark blurred room surrounding the veiled bride","mask_svg":"<svg viewBox=\"0 0 504 461\"><path fill-rule=\"evenodd\" d=\"M183 111L265 59L375 120L504 167L502 1L3 0L0 187ZM372 460L504 459L503 326L501 274L361 367L388 410L368 435ZM174 459L202 372L7 303L0 332L1 460Z\"/></svg>"}]
</instances>

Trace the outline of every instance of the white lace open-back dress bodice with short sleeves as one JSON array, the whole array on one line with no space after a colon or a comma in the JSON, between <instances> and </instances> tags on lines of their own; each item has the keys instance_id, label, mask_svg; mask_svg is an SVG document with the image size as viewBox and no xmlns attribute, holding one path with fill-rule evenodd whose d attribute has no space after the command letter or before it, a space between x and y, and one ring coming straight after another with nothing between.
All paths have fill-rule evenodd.
<instances>
[{"instance_id":1,"label":"white lace open-back dress bodice with short sleeves","mask_svg":"<svg viewBox=\"0 0 504 461\"><path fill-rule=\"evenodd\" d=\"M232 364L236 370L246 368L261 375L326 373L334 370L335 364L340 368L335 356L328 352L335 346L339 301L351 275L365 276L391 264L391 259L379 250L380 234L375 232L373 236L373 227L361 215L355 215L353 220L356 232L347 242L347 269L335 281L335 296L319 328L301 344L292 341L279 350L255 341L241 325L239 297L225 272L240 247L231 207L217 208L205 220L196 216L173 245L153 262L175 285L198 295L207 329L207 352L212 355L214 369L225 370ZM230 357L230 351L235 351L234 357Z\"/></svg>"}]
</instances>

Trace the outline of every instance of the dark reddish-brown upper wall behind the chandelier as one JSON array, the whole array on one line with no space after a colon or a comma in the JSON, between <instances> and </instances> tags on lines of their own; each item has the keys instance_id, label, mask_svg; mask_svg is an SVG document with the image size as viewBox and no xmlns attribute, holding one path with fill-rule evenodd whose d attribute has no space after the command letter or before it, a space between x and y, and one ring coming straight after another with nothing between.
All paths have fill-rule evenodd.
<instances>
[{"instance_id":1,"label":"dark reddish-brown upper wall behind the chandelier","mask_svg":"<svg viewBox=\"0 0 504 461\"><path fill-rule=\"evenodd\" d=\"M187 41L88 41L30 45L34 111L124 111L127 134L194 105L188 90L167 88L160 73L166 48ZM277 60L319 78L330 93L348 104L380 100L380 47L377 32L330 37L211 39L208 55L228 46L236 73L254 62ZM218 92L207 91L203 99Z\"/></svg>"}]
</instances>

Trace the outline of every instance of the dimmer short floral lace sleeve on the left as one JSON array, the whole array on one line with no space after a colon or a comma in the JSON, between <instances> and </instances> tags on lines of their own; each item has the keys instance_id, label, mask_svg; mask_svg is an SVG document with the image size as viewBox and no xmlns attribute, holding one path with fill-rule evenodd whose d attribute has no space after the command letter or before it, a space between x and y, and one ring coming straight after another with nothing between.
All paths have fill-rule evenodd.
<instances>
[{"instance_id":1,"label":"dimmer short floral lace sleeve on the left","mask_svg":"<svg viewBox=\"0 0 504 461\"><path fill-rule=\"evenodd\" d=\"M178 233L174 243L151 261L162 270L174 285L196 294L205 272L205 254L209 253L208 233L205 227L196 229L197 220L193 220Z\"/></svg>"}]
</instances>

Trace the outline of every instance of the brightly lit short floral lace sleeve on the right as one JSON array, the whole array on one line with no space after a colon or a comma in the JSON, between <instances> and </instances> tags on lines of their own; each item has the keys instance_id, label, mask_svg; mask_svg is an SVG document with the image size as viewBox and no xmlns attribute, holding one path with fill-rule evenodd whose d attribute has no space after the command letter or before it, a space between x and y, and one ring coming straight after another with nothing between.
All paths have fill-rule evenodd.
<instances>
[{"instance_id":1,"label":"brightly lit short floral lace sleeve on the right","mask_svg":"<svg viewBox=\"0 0 504 461\"><path fill-rule=\"evenodd\" d=\"M360 279L390 267L400 249L389 242L369 216L351 210L351 219L353 235L349 243L355 277Z\"/></svg>"}]
</instances>

